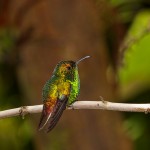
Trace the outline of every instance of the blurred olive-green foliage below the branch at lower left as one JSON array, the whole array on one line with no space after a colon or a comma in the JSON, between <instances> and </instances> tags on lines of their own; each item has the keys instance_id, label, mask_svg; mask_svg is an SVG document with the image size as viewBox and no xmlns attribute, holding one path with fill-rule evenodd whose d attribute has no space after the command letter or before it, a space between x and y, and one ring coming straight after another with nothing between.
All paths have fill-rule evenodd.
<instances>
[{"instance_id":1,"label":"blurred olive-green foliage below the branch at lower left","mask_svg":"<svg viewBox=\"0 0 150 150\"><path fill-rule=\"evenodd\" d=\"M30 144L31 124L28 120L19 120L18 118L0 120L0 149L20 150L27 148L27 145L32 146Z\"/></svg>"}]
</instances>

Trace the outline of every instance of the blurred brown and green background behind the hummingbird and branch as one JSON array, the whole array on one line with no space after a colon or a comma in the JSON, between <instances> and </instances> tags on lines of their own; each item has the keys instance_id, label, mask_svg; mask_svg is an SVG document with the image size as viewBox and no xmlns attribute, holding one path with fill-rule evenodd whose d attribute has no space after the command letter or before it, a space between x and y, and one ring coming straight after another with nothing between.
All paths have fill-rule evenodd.
<instances>
[{"instance_id":1,"label":"blurred brown and green background behind the hummingbird and branch","mask_svg":"<svg viewBox=\"0 0 150 150\"><path fill-rule=\"evenodd\" d=\"M60 60L79 65L79 100L150 101L148 0L1 0L0 110L41 104ZM40 114L0 120L0 149L149 150L150 116L66 110L49 134Z\"/></svg>"}]
</instances>

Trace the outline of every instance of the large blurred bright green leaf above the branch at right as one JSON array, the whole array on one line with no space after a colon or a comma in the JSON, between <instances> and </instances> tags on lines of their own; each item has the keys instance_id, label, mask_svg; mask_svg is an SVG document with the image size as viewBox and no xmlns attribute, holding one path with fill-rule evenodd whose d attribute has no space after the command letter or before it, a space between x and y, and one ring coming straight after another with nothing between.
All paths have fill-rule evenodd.
<instances>
[{"instance_id":1,"label":"large blurred bright green leaf above the branch at right","mask_svg":"<svg viewBox=\"0 0 150 150\"><path fill-rule=\"evenodd\" d=\"M121 93L137 93L150 86L150 11L139 13L125 39L123 66L119 68Z\"/></svg>"}]
</instances>

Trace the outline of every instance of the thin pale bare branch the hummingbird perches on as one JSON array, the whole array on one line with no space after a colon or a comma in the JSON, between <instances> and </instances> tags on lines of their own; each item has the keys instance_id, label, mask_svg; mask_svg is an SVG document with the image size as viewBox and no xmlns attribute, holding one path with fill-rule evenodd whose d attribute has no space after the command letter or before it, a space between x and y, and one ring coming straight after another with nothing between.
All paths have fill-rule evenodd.
<instances>
[{"instance_id":1,"label":"thin pale bare branch the hummingbird perches on","mask_svg":"<svg viewBox=\"0 0 150 150\"><path fill-rule=\"evenodd\" d=\"M0 118L8 118L13 116L24 116L26 114L40 113L43 105L23 106L19 108L0 111ZM150 112L150 104L126 104L113 103L108 101L76 101L67 109L102 109L124 112Z\"/></svg>"}]
</instances>

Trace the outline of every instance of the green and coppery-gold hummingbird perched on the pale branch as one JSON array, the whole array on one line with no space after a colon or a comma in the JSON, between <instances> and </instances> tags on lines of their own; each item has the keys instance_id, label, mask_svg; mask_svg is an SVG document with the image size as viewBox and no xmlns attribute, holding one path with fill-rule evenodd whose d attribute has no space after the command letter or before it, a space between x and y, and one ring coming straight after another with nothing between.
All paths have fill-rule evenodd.
<instances>
[{"instance_id":1,"label":"green and coppery-gold hummingbird perched on the pale branch","mask_svg":"<svg viewBox=\"0 0 150 150\"><path fill-rule=\"evenodd\" d=\"M50 132L59 121L66 106L77 100L80 92L78 64L90 56L78 61L60 61L51 78L45 83L42 91L43 110L38 130Z\"/></svg>"}]
</instances>

